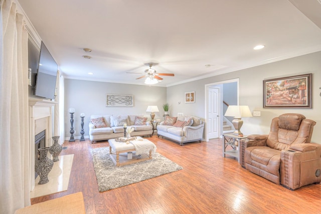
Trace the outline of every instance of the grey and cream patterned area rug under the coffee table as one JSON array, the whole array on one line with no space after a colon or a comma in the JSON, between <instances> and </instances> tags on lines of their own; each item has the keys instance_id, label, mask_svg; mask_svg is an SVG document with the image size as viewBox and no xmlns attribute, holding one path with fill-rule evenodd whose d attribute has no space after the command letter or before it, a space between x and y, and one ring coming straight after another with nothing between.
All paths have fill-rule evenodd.
<instances>
[{"instance_id":1,"label":"grey and cream patterned area rug under the coffee table","mask_svg":"<svg viewBox=\"0 0 321 214\"><path fill-rule=\"evenodd\" d=\"M100 192L183 169L157 152L151 160L118 167L109 156L109 147L91 149L91 155Z\"/></svg>"}]
</instances>

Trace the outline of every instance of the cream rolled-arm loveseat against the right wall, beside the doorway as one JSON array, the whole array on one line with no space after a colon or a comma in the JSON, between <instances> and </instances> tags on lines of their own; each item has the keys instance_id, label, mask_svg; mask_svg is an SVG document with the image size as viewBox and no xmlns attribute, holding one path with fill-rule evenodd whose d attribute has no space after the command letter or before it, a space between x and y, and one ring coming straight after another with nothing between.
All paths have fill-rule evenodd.
<instances>
[{"instance_id":1,"label":"cream rolled-arm loveseat against the right wall, beside the doorway","mask_svg":"<svg viewBox=\"0 0 321 214\"><path fill-rule=\"evenodd\" d=\"M178 116L177 120L188 121L190 118L193 119L193 122L191 122L191 124L185 125L184 127L165 125L166 121L161 122L156 127L157 136L169 138L180 143L180 145L193 141L201 142L203 139L204 121L193 116Z\"/></svg>"}]
</instances>

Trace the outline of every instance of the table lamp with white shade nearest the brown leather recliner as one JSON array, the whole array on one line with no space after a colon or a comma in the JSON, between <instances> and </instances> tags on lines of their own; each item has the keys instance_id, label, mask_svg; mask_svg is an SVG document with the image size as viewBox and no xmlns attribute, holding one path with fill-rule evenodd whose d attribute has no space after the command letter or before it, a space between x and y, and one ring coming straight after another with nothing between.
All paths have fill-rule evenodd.
<instances>
[{"instance_id":1,"label":"table lamp with white shade nearest the brown leather recliner","mask_svg":"<svg viewBox=\"0 0 321 214\"><path fill-rule=\"evenodd\" d=\"M235 128L235 131L233 134L238 135L238 136L243 136L243 133L240 131L242 125L243 125L243 120L241 119L242 117L252 117L251 111L248 106L233 106L230 105L224 116L230 116L233 117L232 124Z\"/></svg>"}]
</instances>

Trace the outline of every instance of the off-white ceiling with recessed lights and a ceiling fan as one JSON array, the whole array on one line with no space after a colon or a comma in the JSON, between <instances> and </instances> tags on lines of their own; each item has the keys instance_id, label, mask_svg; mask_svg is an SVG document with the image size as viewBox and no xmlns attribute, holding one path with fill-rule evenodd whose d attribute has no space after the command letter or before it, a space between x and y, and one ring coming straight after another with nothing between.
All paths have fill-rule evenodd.
<instances>
[{"instance_id":1,"label":"off-white ceiling with recessed lights and a ceiling fan","mask_svg":"<svg viewBox=\"0 0 321 214\"><path fill-rule=\"evenodd\" d=\"M321 51L320 0L18 1L70 79L143 85L154 62L171 86Z\"/></svg>"}]
</instances>

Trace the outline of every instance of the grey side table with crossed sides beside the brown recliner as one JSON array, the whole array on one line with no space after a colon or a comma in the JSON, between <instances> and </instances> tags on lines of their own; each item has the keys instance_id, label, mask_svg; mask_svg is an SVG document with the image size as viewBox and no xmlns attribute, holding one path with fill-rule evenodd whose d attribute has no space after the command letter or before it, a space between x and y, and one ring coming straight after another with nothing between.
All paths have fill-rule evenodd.
<instances>
[{"instance_id":1,"label":"grey side table with crossed sides beside the brown recliner","mask_svg":"<svg viewBox=\"0 0 321 214\"><path fill-rule=\"evenodd\" d=\"M238 136L235 134L223 134L223 157L225 157L226 154L237 157L238 162L240 163L240 140L247 138L247 136ZM232 147L232 150L226 150L228 146Z\"/></svg>"}]
</instances>

